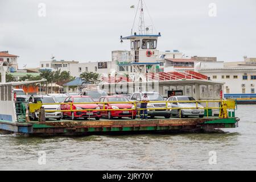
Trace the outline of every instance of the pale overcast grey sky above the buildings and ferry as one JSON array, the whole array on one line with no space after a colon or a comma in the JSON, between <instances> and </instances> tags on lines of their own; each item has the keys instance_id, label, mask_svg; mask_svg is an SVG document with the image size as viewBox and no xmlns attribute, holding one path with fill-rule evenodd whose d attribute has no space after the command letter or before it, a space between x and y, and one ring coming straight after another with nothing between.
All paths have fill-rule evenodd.
<instances>
[{"instance_id":1,"label":"pale overcast grey sky above the buildings and ferry","mask_svg":"<svg viewBox=\"0 0 256 182\"><path fill-rule=\"evenodd\" d=\"M145 12L146 24L152 24L151 17L162 34L160 51L178 49L218 61L256 57L255 0L144 2L150 14ZM111 51L129 50L130 43L121 44L119 38L131 34L137 5L138 0L0 0L0 51L18 55L20 69L39 67L52 55L56 60L111 60Z\"/></svg>"}]
</instances>

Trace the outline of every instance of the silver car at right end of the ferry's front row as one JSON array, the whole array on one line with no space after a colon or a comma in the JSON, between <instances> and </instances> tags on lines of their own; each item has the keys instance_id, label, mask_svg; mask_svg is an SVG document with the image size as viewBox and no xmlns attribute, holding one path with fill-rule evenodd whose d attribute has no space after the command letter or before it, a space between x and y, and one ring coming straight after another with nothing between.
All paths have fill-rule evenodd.
<instances>
[{"instance_id":1,"label":"silver car at right end of the ferry's front row","mask_svg":"<svg viewBox=\"0 0 256 182\"><path fill-rule=\"evenodd\" d=\"M180 101L172 102L172 115L177 115L179 118L184 118L188 116L198 116L200 118L204 117L204 106L197 104L197 109L174 109L175 107L196 107L196 102L182 102L182 101L195 101L193 97L190 96L172 96L168 98L167 101Z\"/></svg>"}]
</instances>

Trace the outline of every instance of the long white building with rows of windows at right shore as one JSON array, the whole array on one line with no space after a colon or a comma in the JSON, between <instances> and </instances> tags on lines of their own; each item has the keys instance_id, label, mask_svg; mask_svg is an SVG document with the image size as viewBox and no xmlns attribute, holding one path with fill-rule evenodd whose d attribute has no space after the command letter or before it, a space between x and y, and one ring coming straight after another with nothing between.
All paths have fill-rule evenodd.
<instances>
[{"instance_id":1,"label":"long white building with rows of windows at right shore","mask_svg":"<svg viewBox=\"0 0 256 182\"><path fill-rule=\"evenodd\" d=\"M224 93L226 94L255 93L256 65L250 64L247 60L230 63L201 62L195 65L195 71L207 75L210 80L225 82Z\"/></svg>"}]
</instances>

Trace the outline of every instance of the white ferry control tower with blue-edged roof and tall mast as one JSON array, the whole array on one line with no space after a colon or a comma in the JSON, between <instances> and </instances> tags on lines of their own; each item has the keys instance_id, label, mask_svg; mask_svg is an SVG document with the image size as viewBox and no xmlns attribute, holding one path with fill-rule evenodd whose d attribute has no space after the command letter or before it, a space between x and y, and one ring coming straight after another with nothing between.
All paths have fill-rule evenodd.
<instances>
[{"instance_id":1,"label":"white ferry control tower with blue-edged roof and tall mast","mask_svg":"<svg viewBox=\"0 0 256 182\"><path fill-rule=\"evenodd\" d=\"M147 73L156 73L159 68L159 51L156 49L158 37L161 36L160 32L158 34L154 33L153 26L146 26L144 20L144 5L143 0L139 0L137 7L137 12L135 14L133 28L131 29L131 35L123 37L122 40L130 40L130 58L126 63L119 63L119 67L130 67L129 75L132 77L133 81L147 81ZM139 10L139 12L138 12ZM139 23L138 23L138 34L134 31L134 24L139 13Z\"/></svg>"}]
</instances>

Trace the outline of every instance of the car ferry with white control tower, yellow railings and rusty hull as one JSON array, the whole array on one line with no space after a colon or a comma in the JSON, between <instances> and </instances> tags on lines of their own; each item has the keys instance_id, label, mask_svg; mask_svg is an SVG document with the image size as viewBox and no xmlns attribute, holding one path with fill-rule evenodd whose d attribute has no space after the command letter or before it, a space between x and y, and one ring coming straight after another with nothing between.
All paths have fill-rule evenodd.
<instances>
[{"instance_id":1,"label":"car ferry with white control tower, yellow railings and rusty hull","mask_svg":"<svg viewBox=\"0 0 256 182\"><path fill-rule=\"evenodd\" d=\"M177 132L205 132L214 131L221 128L238 127L239 118L236 117L236 100L222 99L222 91L224 88L223 82L211 81L207 76L200 73L187 72L159 72L158 66L158 38L162 36L160 33L152 34L149 26L144 25L143 19L143 1L140 0L140 8L137 13L140 14L138 32L133 32L129 36L121 36L123 40L130 40L131 56L125 63L119 63L119 66L130 68L131 73L129 78L121 79L115 76L103 76L100 82L96 85L106 93L133 93L133 92L159 92L164 95L174 96L174 94L187 95L195 98L193 102L196 107L170 108L169 103L177 101L160 101L164 102L165 106L159 107L158 110L170 109L198 109L198 105L202 105L205 110L205 117L190 117L190 118L152 118L147 120L134 119L105 119L88 120L80 119L72 121L69 119L46 120L45 113L49 112L77 112L86 111L90 113L92 109L75 110L72 107L72 102L57 103L57 105L70 105L69 110L47 110L43 105L52 105L51 103L20 103L16 100L14 89L18 85L30 85L38 81L22 81L22 82L5 82L8 63L3 61L0 63L2 82L0 84L0 131L4 133L14 133L17 135L28 136L56 136L56 135L92 135L92 134L143 134L143 133L177 133ZM135 16L136 17L136 16ZM133 104L132 109L115 108L106 109L106 104L112 102L94 102L102 104L103 109L93 109L98 111L109 110L137 110L138 113L142 109L137 108L140 101L130 101L125 103ZM153 101L154 103L157 101ZM118 102L115 104L123 104ZM56 103L54 103L56 105ZM88 103L79 103L88 104ZM23 106L20 106L23 105ZM22 111L20 111L22 107ZM148 108L149 109L149 108ZM154 109L154 108L153 108ZM39 120L30 121L28 111L38 112Z\"/></svg>"}]
</instances>

